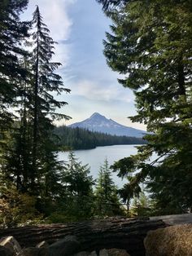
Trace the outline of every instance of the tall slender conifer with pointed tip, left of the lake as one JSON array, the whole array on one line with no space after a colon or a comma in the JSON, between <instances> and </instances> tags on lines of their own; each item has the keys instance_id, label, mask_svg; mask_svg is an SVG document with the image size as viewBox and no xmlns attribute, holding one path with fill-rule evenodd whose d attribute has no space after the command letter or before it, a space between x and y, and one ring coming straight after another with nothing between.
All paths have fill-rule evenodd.
<instances>
[{"instance_id":1,"label":"tall slender conifer with pointed tip, left of the lake","mask_svg":"<svg viewBox=\"0 0 192 256\"><path fill-rule=\"evenodd\" d=\"M38 7L32 24L37 29L33 32L33 53L19 61L20 67L27 70L27 77L20 77L16 88L17 118L4 135L7 143L2 143L1 178L7 186L13 183L19 192L36 196L37 209L48 215L63 195L63 162L57 160L53 121L69 118L56 113L56 108L66 103L57 101L52 94L69 90L63 88L61 77L54 73L59 66L51 62L54 42L41 22Z\"/></svg>"}]
</instances>

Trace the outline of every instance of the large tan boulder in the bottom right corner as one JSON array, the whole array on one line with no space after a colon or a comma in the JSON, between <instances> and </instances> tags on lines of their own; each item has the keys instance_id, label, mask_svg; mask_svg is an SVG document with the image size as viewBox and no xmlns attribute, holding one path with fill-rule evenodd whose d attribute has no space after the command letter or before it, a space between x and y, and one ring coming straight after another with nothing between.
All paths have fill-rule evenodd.
<instances>
[{"instance_id":1,"label":"large tan boulder in the bottom right corner","mask_svg":"<svg viewBox=\"0 0 192 256\"><path fill-rule=\"evenodd\" d=\"M150 231L144 240L146 256L191 256L192 224Z\"/></svg>"}]
</instances>

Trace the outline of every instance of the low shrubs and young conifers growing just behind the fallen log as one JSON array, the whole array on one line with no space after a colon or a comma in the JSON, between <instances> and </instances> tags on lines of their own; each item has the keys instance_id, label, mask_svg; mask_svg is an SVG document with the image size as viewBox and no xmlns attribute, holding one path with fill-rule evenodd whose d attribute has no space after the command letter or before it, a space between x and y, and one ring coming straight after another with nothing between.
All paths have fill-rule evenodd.
<instances>
[{"instance_id":1,"label":"low shrubs and young conifers growing just behind the fallen log","mask_svg":"<svg viewBox=\"0 0 192 256\"><path fill-rule=\"evenodd\" d=\"M20 192L13 183L9 188L1 183L0 227L66 223L125 214L107 160L95 183L89 166L82 165L74 152L69 152L59 177L60 185L57 187L55 183L55 193L41 197Z\"/></svg>"}]
</instances>

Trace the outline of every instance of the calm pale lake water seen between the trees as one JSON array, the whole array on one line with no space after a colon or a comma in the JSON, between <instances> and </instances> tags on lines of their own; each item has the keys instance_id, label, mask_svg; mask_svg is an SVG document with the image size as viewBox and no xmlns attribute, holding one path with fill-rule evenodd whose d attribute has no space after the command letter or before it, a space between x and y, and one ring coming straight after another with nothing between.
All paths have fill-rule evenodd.
<instances>
[{"instance_id":1,"label":"calm pale lake water seen between the trees","mask_svg":"<svg viewBox=\"0 0 192 256\"><path fill-rule=\"evenodd\" d=\"M109 166L111 166L114 161L136 154L136 147L136 145L114 145L87 150L77 150L74 152L76 158L78 158L78 161L81 161L83 165L89 164L90 174L94 179L97 179L99 167L103 165L103 162L106 158L109 162ZM59 160L67 161L68 152L59 152ZM119 188L122 187L124 183L126 183L126 180L118 178L116 173L112 174L112 178Z\"/></svg>"}]
</instances>

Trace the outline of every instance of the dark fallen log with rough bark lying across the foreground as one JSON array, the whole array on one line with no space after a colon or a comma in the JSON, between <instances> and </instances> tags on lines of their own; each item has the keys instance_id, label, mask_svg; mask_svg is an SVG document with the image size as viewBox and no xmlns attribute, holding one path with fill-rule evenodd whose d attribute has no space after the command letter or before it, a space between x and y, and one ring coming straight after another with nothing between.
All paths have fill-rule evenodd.
<instances>
[{"instance_id":1,"label":"dark fallen log with rough bark lying across the foreground","mask_svg":"<svg viewBox=\"0 0 192 256\"><path fill-rule=\"evenodd\" d=\"M133 256L144 256L143 240L146 233L166 226L161 220L107 218L81 223L0 229L0 237L14 236L22 247L28 247L41 241L52 244L65 236L74 235L81 242L81 250L119 248L126 249Z\"/></svg>"}]
</instances>

